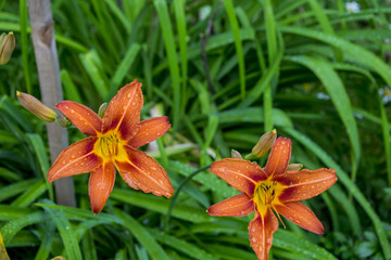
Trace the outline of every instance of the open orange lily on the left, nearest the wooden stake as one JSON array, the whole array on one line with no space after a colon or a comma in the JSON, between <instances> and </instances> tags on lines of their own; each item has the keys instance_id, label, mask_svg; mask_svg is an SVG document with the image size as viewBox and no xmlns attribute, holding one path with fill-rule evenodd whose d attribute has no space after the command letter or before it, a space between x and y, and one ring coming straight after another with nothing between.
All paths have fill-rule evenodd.
<instances>
[{"instance_id":1,"label":"open orange lily on the left, nearest the wooden stake","mask_svg":"<svg viewBox=\"0 0 391 260\"><path fill-rule=\"evenodd\" d=\"M115 168L133 188L171 197L174 187L156 160L137 150L162 136L171 127L167 117L140 122L143 105L141 83L134 80L118 90L100 118L90 108L73 101L55 105L88 138L64 150L48 172L60 178L91 172L88 193L93 213L99 213L115 182Z\"/></svg>"}]
</instances>

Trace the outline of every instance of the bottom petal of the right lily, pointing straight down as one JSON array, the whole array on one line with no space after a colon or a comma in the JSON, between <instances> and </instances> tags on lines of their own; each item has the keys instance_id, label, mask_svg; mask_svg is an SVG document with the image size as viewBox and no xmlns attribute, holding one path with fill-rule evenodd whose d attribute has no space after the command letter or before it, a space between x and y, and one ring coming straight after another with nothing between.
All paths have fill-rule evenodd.
<instances>
[{"instance_id":1,"label":"bottom petal of the right lily, pointing straight down","mask_svg":"<svg viewBox=\"0 0 391 260\"><path fill-rule=\"evenodd\" d=\"M273 233L278 230L278 221L270 208L264 217L255 210L254 219L249 224L250 245L258 259L267 260L273 243Z\"/></svg>"}]
</instances>

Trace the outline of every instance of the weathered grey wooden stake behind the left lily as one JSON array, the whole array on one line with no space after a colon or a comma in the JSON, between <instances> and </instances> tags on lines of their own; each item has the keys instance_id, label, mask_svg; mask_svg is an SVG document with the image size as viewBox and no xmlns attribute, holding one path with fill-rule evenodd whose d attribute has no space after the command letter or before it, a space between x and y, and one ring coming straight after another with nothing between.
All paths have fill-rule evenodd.
<instances>
[{"instance_id":1,"label":"weathered grey wooden stake behind the left lily","mask_svg":"<svg viewBox=\"0 0 391 260\"><path fill-rule=\"evenodd\" d=\"M28 13L42 103L54 107L63 100L63 93L50 0L28 0ZM66 129L56 123L47 123L47 130L50 158L54 162L59 154L68 146L68 136ZM72 177L54 181L54 187L59 205L76 206Z\"/></svg>"}]
</instances>

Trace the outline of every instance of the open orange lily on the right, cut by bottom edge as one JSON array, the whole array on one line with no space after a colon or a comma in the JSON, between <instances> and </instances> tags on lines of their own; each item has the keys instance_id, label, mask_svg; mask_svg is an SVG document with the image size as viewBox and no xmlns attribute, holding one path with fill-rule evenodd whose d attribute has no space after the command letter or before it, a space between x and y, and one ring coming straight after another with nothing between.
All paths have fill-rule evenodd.
<instances>
[{"instance_id":1,"label":"open orange lily on the right, cut by bottom edge","mask_svg":"<svg viewBox=\"0 0 391 260\"><path fill-rule=\"evenodd\" d=\"M242 194L212 205L211 216L240 217L255 210L249 224L250 245L258 259L267 260L273 233L278 221L272 209L311 232L323 234L316 216L300 200L319 195L336 181L332 169L287 171L291 157L291 141L278 138L266 167L244 159L227 158L212 164L211 172L224 179Z\"/></svg>"}]
</instances>

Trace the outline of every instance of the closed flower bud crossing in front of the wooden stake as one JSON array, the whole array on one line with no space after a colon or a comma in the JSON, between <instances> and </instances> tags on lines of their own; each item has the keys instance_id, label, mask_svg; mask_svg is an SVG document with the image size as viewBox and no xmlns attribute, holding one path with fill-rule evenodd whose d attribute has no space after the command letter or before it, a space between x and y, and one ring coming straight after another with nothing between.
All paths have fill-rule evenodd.
<instances>
[{"instance_id":1,"label":"closed flower bud crossing in front of the wooden stake","mask_svg":"<svg viewBox=\"0 0 391 260\"><path fill-rule=\"evenodd\" d=\"M47 122L52 122L55 120L55 112L43 105L42 102L33 95L16 91L16 96L21 104L36 117Z\"/></svg>"}]
</instances>

